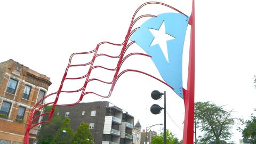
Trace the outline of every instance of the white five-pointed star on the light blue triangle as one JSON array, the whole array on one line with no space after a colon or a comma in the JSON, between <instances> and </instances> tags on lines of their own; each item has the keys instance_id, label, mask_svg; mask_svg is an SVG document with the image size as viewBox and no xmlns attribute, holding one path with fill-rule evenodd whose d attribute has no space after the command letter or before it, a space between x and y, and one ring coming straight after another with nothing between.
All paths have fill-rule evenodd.
<instances>
[{"instance_id":1,"label":"white five-pointed star on the light blue triangle","mask_svg":"<svg viewBox=\"0 0 256 144\"><path fill-rule=\"evenodd\" d=\"M165 33L164 21L163 21L162 25L160 26L159 30L151 29L151 28L149 28L149 30L154 36L153 42L151 43L150 46L153 46L155 44L159 44L161 50L164 53L165 59L169 63L168 50L167 50L167 41L169 41L171 39L175 39L175 37Z\"/></svg>"}]
</instances>

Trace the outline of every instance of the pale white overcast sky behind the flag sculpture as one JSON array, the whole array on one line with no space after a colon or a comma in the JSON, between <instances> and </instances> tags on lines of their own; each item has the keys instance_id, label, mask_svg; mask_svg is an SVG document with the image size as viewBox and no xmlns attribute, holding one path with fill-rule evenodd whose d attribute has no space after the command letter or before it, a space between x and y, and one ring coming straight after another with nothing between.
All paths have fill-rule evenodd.
<instances>
[{"instance_id":1,"label":"pale white overcast sky behind the flag sculpture","mask_svg":"<svg viewBox=\"0 0 256 144\"><path fill-rule=\"evenodd\" d=\"M13 59L51 78L48 94L58 90L61 78L68 64L69 55L74 52L93 50L102 41L122 43L134 11L148 1L0 1L0 61ZM159 1L169 4L190 15L191 1ZM234 109L234 117L249 118L256 107L253 84L255 67L255 9L256 2L245 1L195 1L196 66L195 101L212 101ZM141 14L173 12L161 6L147 6ZM138 22L138 26L141 22ZM183 86L186 87L187 56L189 49L188 26L183 55ZM111 47L110 47L111 48ZM116 50L116 49L115 49ZM118 50L118 49L117 49ZM102 52L115 53L113 49ZM143 52L138 46L129 52ZM84 58L78 58L78 61ZM89 58L90 59L90 58ZM81 62L81 61L80 61ZM111 61L101 60L111 66ZM149 58L134 57L124 64L124 69L140 69L161 78ZM82 76L86 71L71 69L72 76ZM102 71L95 71L95 77L110 78ZM105 86L98 87L106 93ZM78 83L67 83L63 89L77 89ZM105 90L106 88L106 90ZM182 139L184 105L169 87L148 76L136 73L123 75L116 83L110 98L86 95L83 102L108 100L134 116L145 129L147 125L163 123L163 112L153 115L149 109L153 103L163 106L163 99L150 98L153 90L167 93L167 129ZM65 97L66 96L66 97ZM59 103L69 103L76 95L63 95ZM48 102L54 98L47 99ZM148 112L146 108L148 107ZM148 115L147 115L148 113ZM234 126L232 140L238 143L241 133ZM160 127L151 130L159 132Z\"/></svg>"}]
</instances>

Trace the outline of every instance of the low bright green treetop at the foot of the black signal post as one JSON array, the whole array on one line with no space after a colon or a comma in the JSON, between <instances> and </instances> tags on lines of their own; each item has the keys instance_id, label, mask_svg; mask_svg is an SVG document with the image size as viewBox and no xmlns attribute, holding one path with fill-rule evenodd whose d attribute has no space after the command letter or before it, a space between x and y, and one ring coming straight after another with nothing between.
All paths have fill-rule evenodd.
<instances>
[{"instance_id":1,"label":"low bright green treetop at the foot of the black signal post","mask_svg":"<svg viewBox=\"0 0 256 144\"><path fill-rule=\"evenodd\" d=\"M152 138L151 144L164 143L164 133L157 134ZM179 141L174 137L172 132L166 130L166 144L182 144L182 141Z\"/></svg>"}]
</instances>

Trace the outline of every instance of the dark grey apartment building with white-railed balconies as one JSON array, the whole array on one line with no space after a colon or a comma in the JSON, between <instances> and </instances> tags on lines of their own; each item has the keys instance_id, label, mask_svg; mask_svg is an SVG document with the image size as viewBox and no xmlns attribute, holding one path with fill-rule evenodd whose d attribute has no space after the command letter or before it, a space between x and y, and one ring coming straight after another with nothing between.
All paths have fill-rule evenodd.
<instances>
[{"instance_id":1,"label":"dark grey apartment building with white-railed balconies","mask_svg":"<svg viewBox=\"0 0 256 144\"><path fill-rule=\"evenodd\" d=\"M74 131L82 122L88 123L94 143L132 144L134 117L108 101L56 108L59 111L57 115L71 119L70 126Z\"/></svg>"}]
</instances>

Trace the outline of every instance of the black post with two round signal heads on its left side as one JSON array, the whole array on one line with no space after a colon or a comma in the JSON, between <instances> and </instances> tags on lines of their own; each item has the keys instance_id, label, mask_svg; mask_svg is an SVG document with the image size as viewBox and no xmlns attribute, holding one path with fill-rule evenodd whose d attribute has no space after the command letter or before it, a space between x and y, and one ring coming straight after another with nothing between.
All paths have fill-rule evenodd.
<instances>
[{"instance_id":1,"label":"black post with two round signal heads on its left side","mask_svg":"<svg viewBox=\"0 0 256 144\"><path fill-rule=\"evenodd\" d=\"M164 93L161 93L157 90L151 92L151 98L154 100L160 99L162 95L164 95L164 108L154 104L150 107L150 111L152 114L157 115L161 113L162 109L164 109L164 144L166 144L166 92L164 91Z\"/></svg>"}]
</instances>

